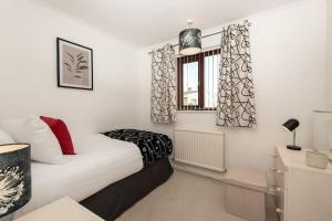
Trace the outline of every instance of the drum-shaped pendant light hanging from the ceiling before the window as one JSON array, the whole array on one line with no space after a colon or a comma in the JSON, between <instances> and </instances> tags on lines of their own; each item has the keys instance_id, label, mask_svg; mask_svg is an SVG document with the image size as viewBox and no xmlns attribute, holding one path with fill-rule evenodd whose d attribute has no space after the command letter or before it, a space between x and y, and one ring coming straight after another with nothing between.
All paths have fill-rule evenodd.
<instances>
[{"instance_id":1,"label":"drum-shaped pendant light hanging from the ceiling before the window","mask_svg":"<svg viewBox=\"0 0 332 221\"><path fill-rule=\"evenodd\" d=\"M201 31L190 28L193 21L188 21L188 28L179 33L179 53L183 55L198 54L201 51Z\"/></svg>"}]
</instances>

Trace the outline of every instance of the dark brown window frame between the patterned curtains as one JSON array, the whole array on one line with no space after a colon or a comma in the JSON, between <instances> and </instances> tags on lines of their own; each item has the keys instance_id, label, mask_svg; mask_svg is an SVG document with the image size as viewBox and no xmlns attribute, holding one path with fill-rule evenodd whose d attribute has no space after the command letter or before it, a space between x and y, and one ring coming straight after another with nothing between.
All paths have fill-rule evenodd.
<instances>
[{"instance_id":1,"label":"dark brown window frame between the patterned curtains","mask_svg":"<svg viewBox=\"0 0 332 221\"><path fill-rule=\"evenodd\" d=\"M177 110L216 110L216 107L205 107L205 57L220 54L220 49L200 52L199 54L179 56L177 59ZM198 62L198 105L184 105L184 73L183 65L191 62Z\"/></svg>"}]
</instances>

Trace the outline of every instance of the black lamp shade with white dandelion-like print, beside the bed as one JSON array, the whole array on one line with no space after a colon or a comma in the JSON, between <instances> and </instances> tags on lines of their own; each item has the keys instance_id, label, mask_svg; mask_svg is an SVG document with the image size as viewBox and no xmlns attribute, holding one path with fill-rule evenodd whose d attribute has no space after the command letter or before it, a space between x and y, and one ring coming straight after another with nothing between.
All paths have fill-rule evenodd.
<instances>
[{"instance_id":1,"label":"black lamp shade with white dandelion-like print, beside the bed","mask_svg":"<svg viewBox=\"0 0 332 221\"><path fill-rule=\"evenodd\" d=\"M30 145L0 145L0 218L31 199Z\"/></svg>"}]
</instances>

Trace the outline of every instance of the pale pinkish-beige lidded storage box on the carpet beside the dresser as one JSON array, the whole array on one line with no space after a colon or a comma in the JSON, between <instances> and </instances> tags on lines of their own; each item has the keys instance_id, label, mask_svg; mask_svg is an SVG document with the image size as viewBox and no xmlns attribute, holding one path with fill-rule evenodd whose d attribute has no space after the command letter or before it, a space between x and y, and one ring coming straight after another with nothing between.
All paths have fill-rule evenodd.
<instances>
[{"instance_id":1,"label":"pale pinkish-beige lidded storage box on the carpet beside the dresser","mask_svg":"<svg viewBox=\"0 0 332 221\"><path fill-rule=\"evenodd\" d=\"M264 172L229 169L222 181L227 212L249 221L266 221L268 181Z\"/></svg>"}]
</instances>

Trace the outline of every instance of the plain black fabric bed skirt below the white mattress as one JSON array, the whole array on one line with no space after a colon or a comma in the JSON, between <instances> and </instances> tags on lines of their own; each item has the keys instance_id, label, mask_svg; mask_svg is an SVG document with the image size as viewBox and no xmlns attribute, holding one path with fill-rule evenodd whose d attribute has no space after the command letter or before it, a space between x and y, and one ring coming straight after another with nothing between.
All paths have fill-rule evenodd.
<instances>
[{"instance_id":1,"label":"plain black fabric bed skirt below the white mattress","mask_svg":"<svg viewBox=\"0 0 332 221\"><path fill-rule=\"evenodd\" d=\"M104 220L112 221L144 198L173 173L168 158L110 185L80 203ZM112 171L111 171L112 172Z\"/></svg>"}]
</instances>

